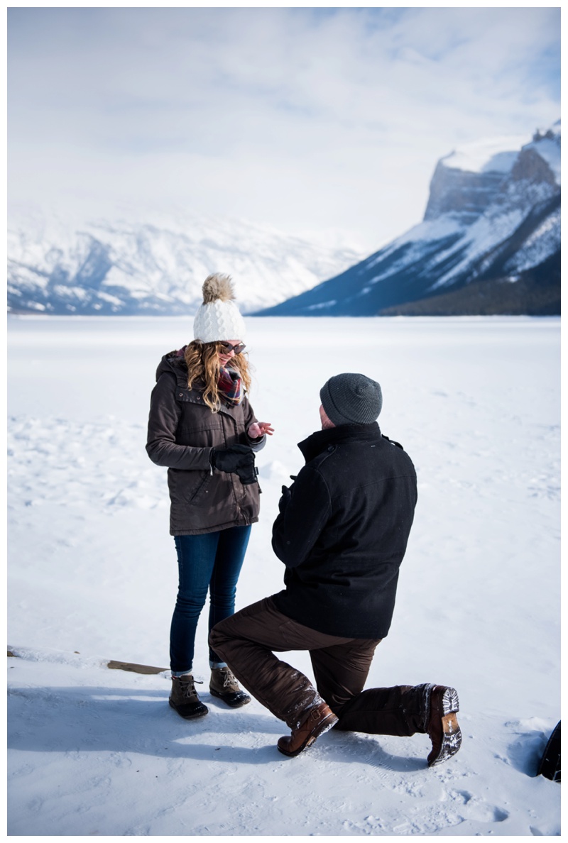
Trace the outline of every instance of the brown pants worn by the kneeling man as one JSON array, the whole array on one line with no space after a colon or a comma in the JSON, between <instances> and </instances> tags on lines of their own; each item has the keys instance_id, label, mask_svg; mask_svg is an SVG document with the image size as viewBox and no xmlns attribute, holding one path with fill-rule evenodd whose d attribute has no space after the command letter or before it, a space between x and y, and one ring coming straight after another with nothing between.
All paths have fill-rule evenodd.
<instances>
[{"instance_id":1,"label":"brown pants worn by the kneeling man","mask_svg":"<svg viewBox=\"0 0 568 843\"><path fill-rule=\"evenodd\" d=\"M221 620L209 643L236 678L290 729L322 701L349 732L412 735L425 732L427 686L363 690L377 639L341 638L312 630L283 615L267 597ZM274 652L308 650L316 688ZM316 690L317 689L317 690Z\"/></svg>"}]
</instances>

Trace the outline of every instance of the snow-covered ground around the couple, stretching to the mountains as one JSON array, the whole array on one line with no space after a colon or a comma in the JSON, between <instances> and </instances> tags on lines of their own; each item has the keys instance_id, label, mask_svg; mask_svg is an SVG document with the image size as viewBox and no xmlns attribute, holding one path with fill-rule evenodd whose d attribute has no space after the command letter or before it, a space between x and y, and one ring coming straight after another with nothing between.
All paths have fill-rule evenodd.
<instances>
[{"instance_id":1,"label":"snow-covered ground around the couple, stretching to the mountains","mask_svg":"<svg viewBox=\"0 0 568 843\"><path fill-rule=\"evenodd\" d=\"M145 451L154 371L192 320L8 323L8 834L560 835L560 786L535 776L560 719L560 320L247 319L260 523L237 608L281 588L270 534L332 374L381 382L419 504L392 630L367 687L438 682L463 747L327 733L298 758L257 701L167 704L176 591L165 470ZM289 660L311 674L305 654Z\"/></svg>"}]
</instances>

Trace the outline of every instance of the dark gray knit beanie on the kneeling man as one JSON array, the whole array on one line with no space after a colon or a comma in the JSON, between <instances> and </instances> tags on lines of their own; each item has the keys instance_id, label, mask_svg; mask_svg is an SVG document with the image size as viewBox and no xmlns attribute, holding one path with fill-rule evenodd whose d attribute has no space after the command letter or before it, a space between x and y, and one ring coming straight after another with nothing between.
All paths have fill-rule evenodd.
<instances>
[{"instance_id":1,"label":"dark gray knit beanie on the kneeling man","mask_svg":"<svg viewBox=\"0 0 568 843\"><path fill-rule=\"evenodd\" d=\"M371 424L381 412L381 384L364 374L336 374L323 384L320 399L327 418L336 427Z\"/></svg>"}]
</instances>

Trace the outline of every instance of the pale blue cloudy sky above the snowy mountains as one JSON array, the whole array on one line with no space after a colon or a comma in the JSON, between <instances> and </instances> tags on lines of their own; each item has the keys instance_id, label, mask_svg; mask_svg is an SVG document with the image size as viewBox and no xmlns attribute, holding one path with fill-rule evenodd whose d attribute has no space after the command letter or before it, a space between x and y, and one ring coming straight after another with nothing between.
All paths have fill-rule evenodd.
<instances>
[{"instance_id":1,"label":"pale blue cloudy sky above the snowy mountains","mask_svg":"<svg viewBox=\"0 0 568 843\"><path fill-rule=\"evenodd\" d=\"M372 250L438 158L560 117L560 8L10 8L10 201Z\"/></svg>"}]
</instances>

